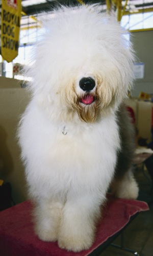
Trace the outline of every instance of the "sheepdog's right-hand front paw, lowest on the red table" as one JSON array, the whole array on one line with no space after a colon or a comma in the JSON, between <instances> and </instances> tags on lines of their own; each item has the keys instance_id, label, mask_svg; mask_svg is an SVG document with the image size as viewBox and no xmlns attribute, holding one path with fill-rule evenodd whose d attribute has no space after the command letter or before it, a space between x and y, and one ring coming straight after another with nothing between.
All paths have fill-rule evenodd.
<instances>
[{"instance_id":1,"label":"sheepdog's right-hand front paw, lowest on the red table","mask_svg":"<svg viewBox=\"0 0 153 256\"><path fill-rule=\"evenodd\" d=\"M77 236L62 236L58 239L58 245L62 249L66 249L68 251L79 252L82 250L87 250L93 244L93 237L85 237L80 234Z\"/></svg>"}]
</instances>

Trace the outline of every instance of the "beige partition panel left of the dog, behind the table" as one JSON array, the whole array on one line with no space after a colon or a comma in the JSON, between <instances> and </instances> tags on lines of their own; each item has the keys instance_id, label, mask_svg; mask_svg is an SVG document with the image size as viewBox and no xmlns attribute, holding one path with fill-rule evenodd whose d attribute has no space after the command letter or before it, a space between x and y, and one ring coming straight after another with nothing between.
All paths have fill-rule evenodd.
<instances>
[{"instance_id":1,"label":"beige partition panel left of the dog, behind the table","mask_svg":"<svg viewBox=\"0 0 153 256\"><path fill-rule=\"evenodd\" d=\"M16 203L27 199L24 168L16 131L21 113L29 102L18 80L0 77L0 179L9 181Z\"/></svg>"}]
</instances>

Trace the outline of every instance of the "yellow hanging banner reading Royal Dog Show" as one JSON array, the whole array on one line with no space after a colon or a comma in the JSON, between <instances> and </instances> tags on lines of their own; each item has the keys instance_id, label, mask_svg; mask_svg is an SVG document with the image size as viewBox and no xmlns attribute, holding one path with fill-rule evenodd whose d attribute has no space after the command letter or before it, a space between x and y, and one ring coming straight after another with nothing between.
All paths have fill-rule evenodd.
<instances>
[{"instance_id":1,"label":"yellow hanging banner reading Royal Dog Show","mask_svg":"<svg viewBox=\"0 0 153 256\"><path fill-rule=\"evenodd\" d=\"M11 62L18 55L21 0L2 0L1 55Z\"/></svg>"}]
</instances>

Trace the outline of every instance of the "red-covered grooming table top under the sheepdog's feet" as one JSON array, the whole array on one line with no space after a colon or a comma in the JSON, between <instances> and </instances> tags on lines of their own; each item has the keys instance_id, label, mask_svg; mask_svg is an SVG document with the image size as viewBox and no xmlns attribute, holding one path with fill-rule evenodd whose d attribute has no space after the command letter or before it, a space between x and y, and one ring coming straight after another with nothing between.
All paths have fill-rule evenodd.
<instances>
[{"instance_id":1,"label":"red-covered grooming table top under the sheepdog's feet","mask_svg":"<svg viewBox=\"0 0 153 256\"><path fill-rule=\"evenodd\" d=\"M95 242L78 253L60 249L57 242L43 242L34 234L32 203L25 201L0 212L0 255L3 256L87 256L99 255L121 232L131 218L148 210L145 202L114 198L108 194L107 205L98 227Z\"/></svg>"}]
</instances>

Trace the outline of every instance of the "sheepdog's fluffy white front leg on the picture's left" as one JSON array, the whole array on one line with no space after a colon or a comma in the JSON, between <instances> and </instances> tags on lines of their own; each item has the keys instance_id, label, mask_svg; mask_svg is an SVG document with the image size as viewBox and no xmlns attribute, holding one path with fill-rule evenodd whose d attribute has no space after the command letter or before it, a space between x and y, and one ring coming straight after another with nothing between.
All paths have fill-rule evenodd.
<instances>
[{"instance_id":1,"label":"sheepdog's fluffy white front leg on the picture's left","mask_svg":"<svg viewBox=\"0 0 153 256\"><path fill-rule=\"evenodd\" d=\"M36 203L34 211L35 232L40 240L57 241L62 207L63 204L60 202L49 200Z\"/></svg>"}]
</instances>

